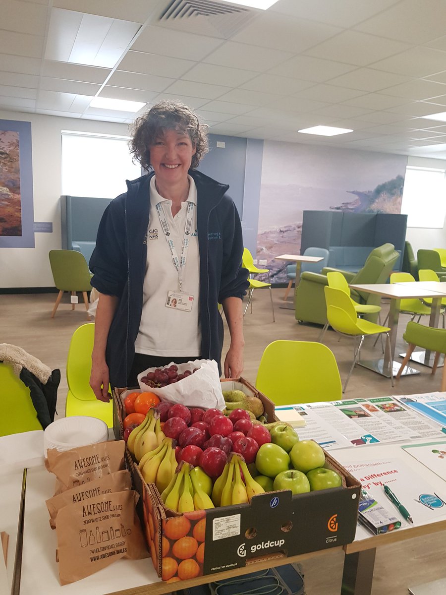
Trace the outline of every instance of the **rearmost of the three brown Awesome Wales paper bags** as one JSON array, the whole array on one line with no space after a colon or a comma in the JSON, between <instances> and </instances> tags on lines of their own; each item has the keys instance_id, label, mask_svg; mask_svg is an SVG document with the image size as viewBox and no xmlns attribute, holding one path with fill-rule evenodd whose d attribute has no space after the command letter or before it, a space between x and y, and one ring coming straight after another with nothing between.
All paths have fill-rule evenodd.
<instances>
[{"instance_id":1,"label":"rearmost of the three brown Awesome Wales paper bags","mask_svg":"<svg viewBox=\"0 0 446 595\"><path fill-rule=\"evenodd\" d=\"M56 494L124 469L124 440L110 440L65 452L49 449L45 467L58 478Z\"/></svg>"}]
</instances>

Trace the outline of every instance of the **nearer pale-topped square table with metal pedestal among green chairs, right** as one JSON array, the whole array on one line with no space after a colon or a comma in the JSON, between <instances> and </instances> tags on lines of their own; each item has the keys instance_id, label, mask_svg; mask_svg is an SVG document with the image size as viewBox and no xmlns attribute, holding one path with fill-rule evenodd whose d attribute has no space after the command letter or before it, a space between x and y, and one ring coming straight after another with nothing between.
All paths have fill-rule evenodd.
<instances>
[{"instance_id":1,"label":"nearer pale-topped square table with metal pedestal among green chairs, right","mask_svg":"<svg viewBox=\"0 0 446 595\"><path fill-rule=\"evenodd\" d=\"M438 325L438 318L441 306L441 298L446 297L446 283L443 285L445 287L440 287L435 292L429 287L426 288L426 283L435 283L438 286L436 281L411 281L409 283L370 283L370 284L363 284L363 285L350 285L351 289L356 289L356 291L366 292L366 293L375 293L376 295L380 295L382 297L390 297L390 311L389 311L389 318L388 318L388 327L390 328L390 345L391 345L391 353L390 356L388 354L388 350L386 349L384 354L384 359L376 360L365 360L358 362L359 365L362 365L364 368L369 368L374 372L378 372L387 378L390 378L390 366L392 365L394 374L397 374L398 370L401 367L399 362L395 362L395 345L397 342L397 329L398 329L398 317L400 314L399 311L399 301L401 299L409 299L409 298L422 298L422 297L432 297L432 307L431 307L431 317L429 318L429 326L436 327ZM426 352L426 357L429 359L430 352ZM403 375L408 374L419 374L419 372L414 368L404 368Z\"/></svg>"}]
</instances>

